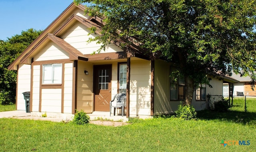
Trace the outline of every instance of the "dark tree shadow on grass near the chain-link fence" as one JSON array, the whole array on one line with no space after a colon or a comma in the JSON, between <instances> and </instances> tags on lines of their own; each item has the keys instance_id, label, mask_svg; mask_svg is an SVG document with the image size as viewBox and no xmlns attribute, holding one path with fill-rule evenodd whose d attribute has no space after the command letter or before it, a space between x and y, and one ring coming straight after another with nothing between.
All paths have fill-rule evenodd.
<instances>
[{"instance_id":1,"label":"dark tree shadow on grass near the chain-link fence","mask_svg":"<svg viewBox=\"0 0 256 152\"><path fill-rule=\"evenodd\" d=\"M216 112L212 110L202 110L197 112L196 117L201 120L221 120L221 121L237 122L240 124L256 125L255 112L240 112L240 111Z\"/></svg>"}]
</instances>

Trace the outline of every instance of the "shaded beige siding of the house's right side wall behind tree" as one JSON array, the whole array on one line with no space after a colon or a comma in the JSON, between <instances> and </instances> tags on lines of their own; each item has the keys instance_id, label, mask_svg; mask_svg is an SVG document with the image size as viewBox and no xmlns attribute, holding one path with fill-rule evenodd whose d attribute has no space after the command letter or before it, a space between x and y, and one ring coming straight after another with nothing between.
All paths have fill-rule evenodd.
<instances>
[{"instance_id":1,"label":"shaded beige siding of the house's right side wall behind tree","mask_svg":"<svg viewBox=\"0 0 256 152\"><path fill-rule=\"evenodd\" d=\"M180 101L170 101L170 63L163 60L155 61L154 75L154 114L169 114L177 110ZM216 78L212 78L210 84L206 86L206 95L222 95L222 83ZM207 108L206 101L196 101L196 92L194 92L192 105L196 110L204 110Z\"/></svg>"}]
</instances>

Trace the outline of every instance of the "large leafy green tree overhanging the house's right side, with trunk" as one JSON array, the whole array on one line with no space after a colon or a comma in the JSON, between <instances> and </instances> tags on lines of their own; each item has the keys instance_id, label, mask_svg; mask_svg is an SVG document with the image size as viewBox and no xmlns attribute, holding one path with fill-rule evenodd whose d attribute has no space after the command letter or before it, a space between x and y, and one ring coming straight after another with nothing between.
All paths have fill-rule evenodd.
<instances>
[{"instance_id":1,"label":"large leafy green tree overhanging the house's right side, with trunk","mask_svg":"<svg viewBox=\"0 0 256 152\"><path fill-rule=\"evenodd\" d=\"M178 68L186 82L185 104L210 76L256 75L256 2L252 0L74 0L104 18L102 48L114 38L134 38L151 54ZM88 3L89 2L89 3ZM92 32L95 28L92 28ZM126 45L129 45L129 41ZM124 46L125 47L125 46Z\"/></svg>"}]
</instances>

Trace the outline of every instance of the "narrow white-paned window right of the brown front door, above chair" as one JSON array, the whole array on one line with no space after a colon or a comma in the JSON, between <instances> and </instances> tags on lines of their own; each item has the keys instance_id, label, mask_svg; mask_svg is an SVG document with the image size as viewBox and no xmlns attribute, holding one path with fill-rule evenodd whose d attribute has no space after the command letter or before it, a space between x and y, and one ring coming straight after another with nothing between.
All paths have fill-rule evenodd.
<instances>
[{"instance_id":1,"label":"narrow white-paned window right of the brown front door, above chair","mask_svg":"<svg viewBox=\"0 0 256 152\"><path fill-rule=\"evenodd\" d=\"M126 94L127 64L119 64L119 93Z\"/></svg>"}]
</instances>

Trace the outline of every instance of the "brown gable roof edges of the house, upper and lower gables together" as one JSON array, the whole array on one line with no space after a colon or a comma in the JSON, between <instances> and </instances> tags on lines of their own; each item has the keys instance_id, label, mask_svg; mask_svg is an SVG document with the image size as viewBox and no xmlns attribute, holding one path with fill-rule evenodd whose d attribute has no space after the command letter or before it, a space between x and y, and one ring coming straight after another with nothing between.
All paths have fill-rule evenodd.
<instances>
[{"instance_id":1,"label":"brown gable roof edges of the house, upper and lower gables together","mask_svg":"<svg viewBox=\"0 0 256 152\"><path fill-rule=\"evenodd\" d=\"M58 36L61 36L64 32L66 32L66 29L72 26L75 22L80 22L90 27L96 27L96 33L100 34L102 30L102 26L104 26L104 23L102 22L102 18L99 17L89 17L83 18L81 16L78 16L74 14L74 11L76 9L80 9L81 11L84 11L86 9L86 6L84 5L78 5L76 6L74 2L72 2L66 10L62 12L43 32L34 40L28 48L26 48L12 64L8 67L9 70L18 70L18 64L31 64L31 59L34 54L36 54L37 48L40 47L41 44L44 44L51 40L58 46L60 46L62 49L64 49L68 54L70 55L70 60L84 60L88 61L88 58L84 56L80 51L76 50L76 48L72 47L70 44L68 44L63 39L59 38ZM68 18L68 19L67 19ZM112 41L113 44L116 46L120 46L120 44L126 43L128 40L125 38L120 38ZM139 57L144 58L146 60L149 60L149 56L145 55L145 51L142 50L138 44L132 42L129 46L124 48L124 52L126 52L127 57Z\"/></svg>"}]
</instances>

